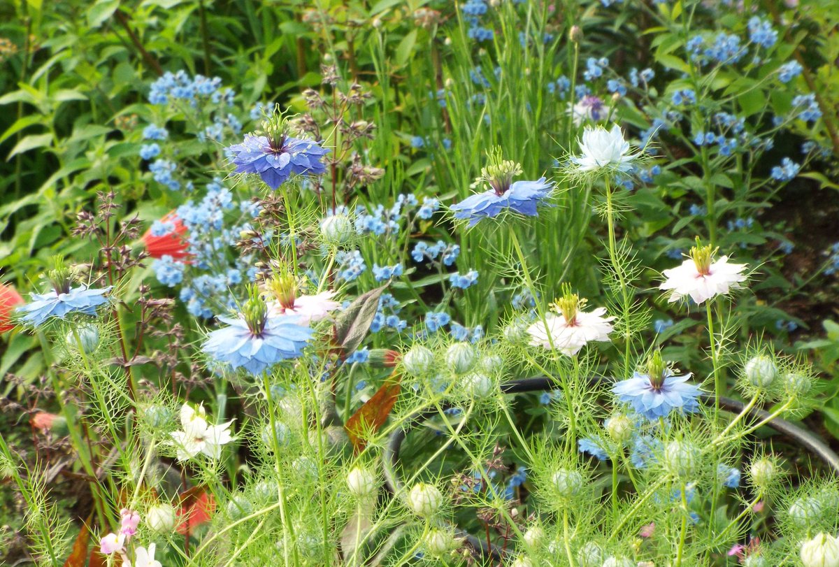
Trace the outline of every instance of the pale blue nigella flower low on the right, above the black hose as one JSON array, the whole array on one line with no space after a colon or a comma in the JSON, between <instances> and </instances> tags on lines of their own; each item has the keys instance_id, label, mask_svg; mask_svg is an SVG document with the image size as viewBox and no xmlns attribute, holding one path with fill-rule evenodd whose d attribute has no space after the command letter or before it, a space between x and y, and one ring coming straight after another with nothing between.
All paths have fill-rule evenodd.
<instances>
[{"instance_id":1,"label":"pale blue nigella flower low on the right, above the black hose","mask_svg":"<svg viewBox=\"0 0 839 567\"><path fill-rule=\"evenodd\" d=\"M664 365L659 351L650 357L647 374L635 372L633 377L618 382L612 392L624 403L632 405L638 414L650 421L666 418L674 409L682 412L695 412L699 409L701 390L693 384L685 383L690 374L674 376L670 368Z\"/></svg>"}]
</instances>

